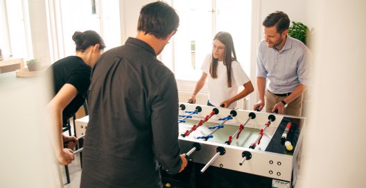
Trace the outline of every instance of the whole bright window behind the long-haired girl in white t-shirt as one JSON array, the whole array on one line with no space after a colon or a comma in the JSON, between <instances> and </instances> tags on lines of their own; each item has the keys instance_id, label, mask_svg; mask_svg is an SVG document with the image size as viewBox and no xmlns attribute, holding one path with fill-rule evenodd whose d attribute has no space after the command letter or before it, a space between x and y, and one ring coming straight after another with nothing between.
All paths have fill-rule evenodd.
<instances>
[{"instance_id":1,"label":"whole bright window behind the long-haired girl in white t-shirt","mask_svg":"<svg viewBox=\"0 0 366 188\"><path fill-rule=\"evenodd\" d=\"M229 32L238 62L249 75L252 2L241 0L171 0L180 16L180 27L162 53L162 62L177 79L198 80L201 66L211 53L214 35Z\"/></svg>"}]
</instances>

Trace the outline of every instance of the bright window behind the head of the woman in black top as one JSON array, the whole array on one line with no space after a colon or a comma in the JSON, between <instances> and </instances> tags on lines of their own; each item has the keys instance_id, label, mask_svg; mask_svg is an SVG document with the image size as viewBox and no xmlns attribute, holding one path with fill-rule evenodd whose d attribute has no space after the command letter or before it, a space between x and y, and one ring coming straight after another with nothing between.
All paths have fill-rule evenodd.
<instances>
[{"instance_id":1,"label":"bright window behind the head of the woman in black top","mask_svg":"<svg viewBox=\"0 0 366 188\"><path fill-rule=\"evenodd\" d=\"M55 3L54 21L58 33L59 58L75 55L72 35L75 31L95 30L103 37L105 50L121 45L118 0L58 0ZM60 10L60 15L56 10ZM57 59L55 59L57 60Z\"/></svg>"}]
</instances>

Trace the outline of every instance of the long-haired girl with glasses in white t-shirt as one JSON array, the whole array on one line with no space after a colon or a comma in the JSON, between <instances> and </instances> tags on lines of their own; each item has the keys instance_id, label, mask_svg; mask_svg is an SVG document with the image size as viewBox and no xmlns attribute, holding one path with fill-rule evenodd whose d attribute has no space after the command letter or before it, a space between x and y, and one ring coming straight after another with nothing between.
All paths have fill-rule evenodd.
<instances>
[{"instance_id":1,"label":"long-haired girl with glasses in white t-shirt","mask_svg":"<svg viewBox=\"0 0 366 188\"><path fill-rule=\"evenodd\" d=\"M252 82L236 61L232 35L229 32L218 32L212 44L212 53L207 55L201 67L202 76L188 102L195 103L195 95L209 78L209 106L223 106L234 109L236 101L254 91ZM238 86L244 86L238 93Z\"/></svg>"}]
</instances>

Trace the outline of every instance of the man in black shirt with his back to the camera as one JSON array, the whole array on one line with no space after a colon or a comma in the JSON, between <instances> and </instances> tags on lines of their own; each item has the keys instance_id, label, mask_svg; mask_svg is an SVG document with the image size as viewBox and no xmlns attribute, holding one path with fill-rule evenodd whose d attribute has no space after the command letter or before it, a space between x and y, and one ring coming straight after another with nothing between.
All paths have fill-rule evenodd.
<instances>
[{"instance_id":1,"label":"man in black shirt with his back to the camera","mask_svg":"<svg viewBox=\"0 0 366 188\"><path fill-rule=\"evenodd\" d=\"M105 52L92 71L80 187L162 187L186 167L178 143L175 77L157 55L179 17L162 1L144 6L138 34Z\"/></svg>"}]
</instances>

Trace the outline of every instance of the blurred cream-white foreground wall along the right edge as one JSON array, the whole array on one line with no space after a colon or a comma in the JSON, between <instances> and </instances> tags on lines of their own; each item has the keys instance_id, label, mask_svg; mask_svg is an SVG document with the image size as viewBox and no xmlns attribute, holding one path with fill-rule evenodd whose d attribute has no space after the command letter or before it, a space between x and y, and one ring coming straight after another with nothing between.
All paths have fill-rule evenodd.
<instances>
[{"instance_id":1,"label":"blurred cream-white foreground wall along the right edge","mask_svg":"<svg viewBox=\"0 0 366 188\"><path fill-rule=\"evenodd\" d=\"M366 1L309 3L315 74L304 187L365 187Z\"/></svg>"}]
</instances>

